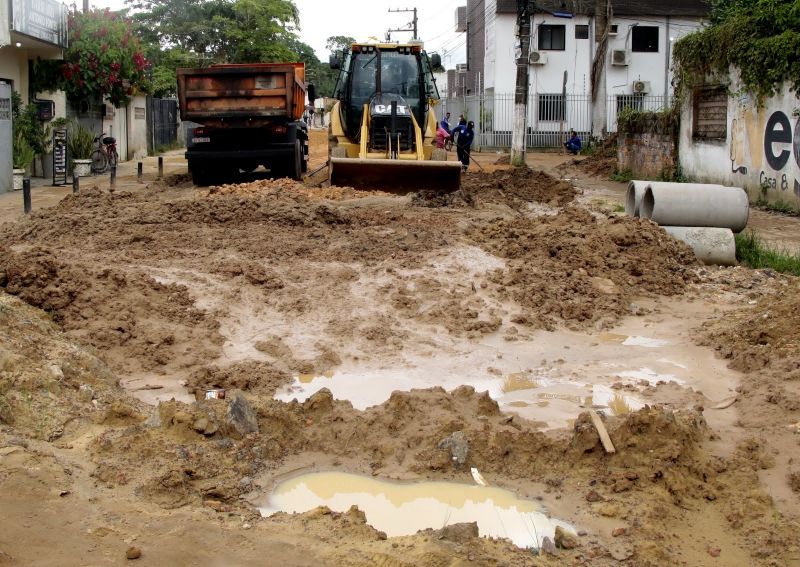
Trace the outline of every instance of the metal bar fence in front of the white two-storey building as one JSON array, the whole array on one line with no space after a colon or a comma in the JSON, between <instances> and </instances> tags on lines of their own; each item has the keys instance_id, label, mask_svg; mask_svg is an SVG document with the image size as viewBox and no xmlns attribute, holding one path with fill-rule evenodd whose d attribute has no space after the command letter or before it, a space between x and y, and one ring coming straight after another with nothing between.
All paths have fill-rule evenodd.
<instances>
[{"instance_id":1,"label":"metal bar fence in front of the white two-storey building","mask_svg":"<svg viewBox=\"0 0 800 567\"><path fill-rule=\"evenodd\" d=\"M617 116L626 107L663 110L671 100L664 96L611 95L606 101L606 130L617 131ZM511 147L514 125L514 95L484 94L442 99L437 115L450 112L450 125L460 116L475 122L475 144L480 147ZM528 99L526 143L529 148L560 147L566 132L575 130L586 138L592 131L592 99L586 94L534 94Z\"/></svg>"}]
</instances>

